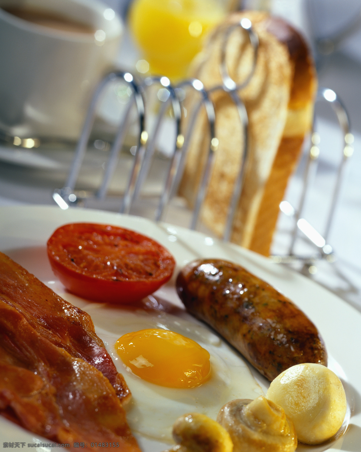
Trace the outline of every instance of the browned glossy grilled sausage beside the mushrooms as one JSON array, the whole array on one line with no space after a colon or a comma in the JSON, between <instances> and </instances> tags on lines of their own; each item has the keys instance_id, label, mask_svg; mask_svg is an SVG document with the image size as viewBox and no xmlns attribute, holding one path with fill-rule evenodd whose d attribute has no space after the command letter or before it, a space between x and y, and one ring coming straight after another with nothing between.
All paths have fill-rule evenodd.
<instances>
[{"instance_id":1,"label":"browned glossy grilled sausage beside the mushrooms","mask_svg":"<svg viewBox=\"0 0 361 452\"><path fill-rule=\"evenodd\" d=\"M196 260L180 271L176 286L187 311L218 331L268 380L299 363L327 366L323 340L310 319L240 265Z\"/></svg>"}]
</instances>

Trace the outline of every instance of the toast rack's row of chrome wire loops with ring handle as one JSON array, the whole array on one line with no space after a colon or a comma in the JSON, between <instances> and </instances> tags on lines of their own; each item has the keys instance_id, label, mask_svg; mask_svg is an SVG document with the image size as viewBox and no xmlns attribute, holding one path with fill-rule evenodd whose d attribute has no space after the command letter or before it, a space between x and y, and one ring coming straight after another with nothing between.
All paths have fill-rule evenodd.
<instances>
[{"instance_id":1,"label":"toast rack's row of chrome wire loops with ring handle","mask_svg":"<svg viewBox=\"0 0 361 452\"><path fill-rule=\"evenodd\" d=\"M231 79L227 64L226 64L226 47L228 39L230 38L231 33L236 29L241 28L246 33L248 33L248 36L250 38L251 45L254 49L254 62L251 69L250 74L246 78L246 80L241 85L236 85L236 82ZM215 136L215 111L214 106L209 98L209 94L215 90L222 89L225 92L229 93L231 99L233 100L234 104L236 105L236 108L239 113L239 117L242 124L242 129L244 133L244 145L242 151L242 158L241 158L241 164L240 164L240 170L236 179L234 192L231 198L231 203L229 206L229 211L227 215L227 224L225 228L224 233L224 240L229 240L230 234L231 234L231 227L233 223L233 218L235 215L236 207L238 204L238 199L240 197L241 188L242 188L242 180L244 175L244 168L245 168L245 161L247 158L247 148L248 148L248 117L247 112L245 110L245 106L239 97L237 91L241 88L243 88L245 85L247 85L255 71L256 61L257 61L257 52L258 52L258 37L256 33L254 32L252 25L250 23L249 19L242 19L237 24L232 24L229 27L227 27L225 30L223 30L223 39L222 39L222 48L221 48L221 64L220 64L220 73L222 77L222 85L215 86L210 90L205 90L202 82L197 79L192 80L185 80L184 82L181 82L176 87L172 87L170 84L170 81L167 79L167 77L147 77L145 80L143 80L143 83L137 84L134 80L134 76L130 74L130 72L113 72L109 75L107 75L101 83L98 85L94 95L93 99L91 101L90 107L88 109L88 114L84 123L83 131L81 133L78 146L75 151L74 160L71 165L71 169L69 172L68 180L65 184L65 187L61 188L60 190L55 190L53 194L54 200L60 205L60 207L67 208L69 205L76 205L78 199L74 193L74 188L76 184L76 180L78 178L79 170L82 165L84 155L86 152L86 146L88 143L88 139L91 133L91 129L94 122L95 117L95 109L97 106L98 99L105 88L105 86L116 79L123 79L125 80L132 89L132 97L131 101L128 104L128 107L125 111L125 118L120 124L115 140L113 142L113 145L111 147L110 156L106 162L106 169L104 172L104 176L102 179L101 186L99 190L96 193L96 198L104 199L106 196L107 189L109 187L111 177L115 170L115 164L116 160L118 158L119 150L123 144L124 138L125 138L125 131L128 126L128 118L130 114L130 110L132 108L132 105L135 101L137 106L137 113L139 118L139 137L138 137L138 144L136 147L136 152L134 156L134 162L133 167L130 172L130 176L128 179L127 188L125 190L125 194L123 197L123 202L120 208L120 212L122 213L129 213L130 209L132 207L132 204L136 197L139 194L141 185L143 184L144 179L146 178L146 175L148 173L150 161L153 157L154 152L154 146L156 143L157 135L161 126L162 119L164 118L165 114L167 113L167 107L168 104L165 102L162 105L162 108L160 110L160 113L158 114L156 125L153 130L153 134L151 137L148 137L148 132L145 130L145 105L144 105L144 90L147 86L151 86L155 83L160 83L164 87L166 87L169 90L172 104L172 109L174 113L174 118L176 121L176 141L174 143L173 147L173 153L171 157L171 164L169 166L169 170L167 173L167 178L164 186L164 190L162 191L162 196L160 198L159 205L156 210L155 219L156 221L159 221L163 218L165 209L167 207L167 204L169 203L172 194L176 192L177 185L179 184L181 174L184 168L185 163L185 157L186 152L190 143L191 135L194 129L195 120L197 118L197 115L199 114L200 108L204 106L206 111L206 116L209 124L209 133L210 133L210 146L208 148L208 155L206 158L206 165L204 167L203 175L201 177L201 182L199 185L199 190L194 206L194 211L191 219L190 228L195 229L197 226L198 218L199 218L199 212L201 209L202 202L204 200L208 182L211 175L211 170L214 162L214 155L215 151L218 147L218 139ZM186 87L190 87L191 89L194 89L200 94L200 101L196 108L194 108L194 112L192 113L192 119L189 121L190 126L188 127L188 130L185 132L185 135L183 135L180 131L181 128L181 107L180 107L180 99L178 99L176 95L177 89L184 89ZM168 100L169 100L168 99Z\"/></svg>"}]
</instances>

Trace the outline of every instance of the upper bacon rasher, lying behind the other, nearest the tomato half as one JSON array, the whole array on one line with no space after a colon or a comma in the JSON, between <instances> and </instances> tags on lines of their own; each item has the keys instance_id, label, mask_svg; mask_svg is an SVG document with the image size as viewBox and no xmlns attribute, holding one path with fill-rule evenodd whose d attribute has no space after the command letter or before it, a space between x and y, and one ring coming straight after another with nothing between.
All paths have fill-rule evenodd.
<instances>
[{"instance_id":1,"label":"upper bacon rasher, lying behind the other, nearest the tomato half","mask_svg":"<svg viewBox=\"0 0 361 452\"><path fill-rule=\"evenodd\" d=\"M6 254L0 253L0 300L21 312L52 344L100 370L124 403L131 394L123 376L95 334L90 315L59 297Z\"/></svg>"}]
</instances>

